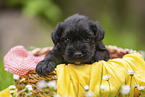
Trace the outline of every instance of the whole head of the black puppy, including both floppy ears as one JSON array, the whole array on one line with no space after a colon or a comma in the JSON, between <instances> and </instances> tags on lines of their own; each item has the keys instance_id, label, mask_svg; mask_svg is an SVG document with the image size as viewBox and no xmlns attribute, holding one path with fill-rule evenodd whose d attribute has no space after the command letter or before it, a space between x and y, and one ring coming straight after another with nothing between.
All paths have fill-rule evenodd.
<instances>
[{"instance_id":1,"label":"whole head of the black puppy, including both floppy ears","mask_svg":"<svg viewBox=\"0 0 145 97\"><path fill-rule=\"evenodd\" d=\"M102 30L102 31L101 31ZM91 60L104 30L85 16L74 15L57 25L52 40L66 62L85 63Z\"/></svg>"}]
</instances>

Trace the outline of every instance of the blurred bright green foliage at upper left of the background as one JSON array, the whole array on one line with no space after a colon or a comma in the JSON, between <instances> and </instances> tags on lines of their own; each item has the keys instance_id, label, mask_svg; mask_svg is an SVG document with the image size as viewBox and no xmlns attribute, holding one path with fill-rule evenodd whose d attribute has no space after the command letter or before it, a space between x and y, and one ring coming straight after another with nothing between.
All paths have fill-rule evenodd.
<instances>
[{"instance_id":1,"label":"blurred bright green foliage at upper left of the background","mask_svg":"<svg viewBox=\"0 0 145 97\"><path fill-rule=\"evenodd\" d=\"M62 17L61 9L52 0L5 0L5 5L20 8L27 17L40 16L52 25Z\"/></svg>"}]
</instances>

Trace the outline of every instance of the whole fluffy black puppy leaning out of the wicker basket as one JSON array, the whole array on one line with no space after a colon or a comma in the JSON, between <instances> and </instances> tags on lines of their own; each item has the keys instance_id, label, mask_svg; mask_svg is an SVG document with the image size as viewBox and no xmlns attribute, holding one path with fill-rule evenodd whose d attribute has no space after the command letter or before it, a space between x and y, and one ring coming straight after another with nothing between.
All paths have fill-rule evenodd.
<instances>
[{"instance_id":1,"label":"whole fluffy black puppy leaning out of the wicker basket","mask_svg":"<svg viewBox=\"0 0 145 97\"><path fill-rule=\"evenodd\" d=\"M75 14L58 23L52 32L53 50L37 64L36 72L45 75L58 64L92 64L110 58L102 39L105 31L96 22Z\"/></svg>"}]
</instances>

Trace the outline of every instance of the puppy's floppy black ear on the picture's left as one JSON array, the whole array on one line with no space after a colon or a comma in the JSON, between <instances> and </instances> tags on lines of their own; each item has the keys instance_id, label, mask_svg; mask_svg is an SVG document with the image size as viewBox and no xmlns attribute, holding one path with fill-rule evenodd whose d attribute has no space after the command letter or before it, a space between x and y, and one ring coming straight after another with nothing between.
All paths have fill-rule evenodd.
<instances>
[{"instance_id":1,"label":"puppy's floppy black ear on the picture's left","mask_svg":"<svg viewBox=\"0 0 145 97\"><path fill-rule=\"evenodd\" d=\"M55 45L59 42L62 31L62 23L58 23L56 28L51 33L51 38Z\"/></svg>"}]
</instances>

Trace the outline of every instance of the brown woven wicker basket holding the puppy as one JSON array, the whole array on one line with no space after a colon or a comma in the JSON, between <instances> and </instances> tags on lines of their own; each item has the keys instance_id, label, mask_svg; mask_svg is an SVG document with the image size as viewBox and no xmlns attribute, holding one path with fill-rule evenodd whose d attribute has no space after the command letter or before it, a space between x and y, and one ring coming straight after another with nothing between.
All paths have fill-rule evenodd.
<instances>
[{"instance_id":1,"label":"brown woven wicker basket holding the puppy","mask_svg":"<svg viewBox=\"0 0 145 97\"><path fill-rule=\"evenodd\" d=\"M122 48L118 48L116 46L106 46L106 48L108 49L111 58L122 58L125 54L130 54L130 53L136 53L135 50L132 49L122 49ZM40 56L43 54L48 53L49 50L51 50L52 47L47 47L47 48L36 48L34 50L32 50L31 52L33 53L33 55L35 56ZM20 82L20 80L22 78L25 78L25 81L22 83ZM24 87L28 84L32 85L33 87L33 96L34 97L52 97L52 95L54 95L54 91L52 91L51 89L47 88L47 89L39 89L36 85L36 83L40 80L45 80L45 81L56 81L57 80L57 76L56 76L56 72L55 70L53 72L51 72L50 74L48 74L47 76L43 77L43 76L39 76L35 71L29 71L25 76L20 77L19 80L15 81L15 85L18 89L18 92L22 89L24 89ZM19 95L19 97L25 97L24 93L21 93Z\"/></svg>"}]
</instances>

